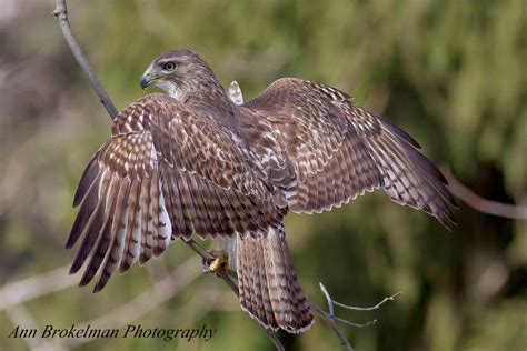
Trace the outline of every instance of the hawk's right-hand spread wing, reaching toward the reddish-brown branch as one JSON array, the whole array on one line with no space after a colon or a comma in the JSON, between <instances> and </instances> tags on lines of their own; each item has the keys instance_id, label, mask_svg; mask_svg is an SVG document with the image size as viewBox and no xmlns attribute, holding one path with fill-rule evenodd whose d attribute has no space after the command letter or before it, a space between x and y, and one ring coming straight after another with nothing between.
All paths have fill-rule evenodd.
<instances>
[{"instance_id":1,"label":"hawk's right-hand spread wing, reaching toward the reddish-brown branch","mask_svg":"<svg viewBox=\"0 0 527 351\"><path fill-rule=\"evenodd\" d=\"M380 188L394 201L453 224L454 198L419 144L349 98L330 87L285 78L243 106L282 137L297 176L287 192L289 208L320 212Z\"/></svg>"}]
</instances>

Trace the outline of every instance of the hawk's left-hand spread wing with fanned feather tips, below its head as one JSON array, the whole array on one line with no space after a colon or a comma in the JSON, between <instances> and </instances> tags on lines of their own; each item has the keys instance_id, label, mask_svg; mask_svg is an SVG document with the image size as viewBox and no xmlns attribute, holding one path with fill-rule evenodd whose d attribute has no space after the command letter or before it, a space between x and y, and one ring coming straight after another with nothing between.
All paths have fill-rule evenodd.
<instances>
[{"instance_id":1,"label":"hawk's left-hand spread wing with fanned feather tips, below its head","mask_svg":"<svg viewBox=\"0 0 527 351\"><path fill-rule=\"evenodd\" d=\"M158 257L171 238L259 234L282 220L271 199L228 130L168 96L147 96L117 117L82 174L66 247L83 240L70 272L91 252L80 284L102 267L99 291L117 267Z\"/></svg>"}]
</instances>

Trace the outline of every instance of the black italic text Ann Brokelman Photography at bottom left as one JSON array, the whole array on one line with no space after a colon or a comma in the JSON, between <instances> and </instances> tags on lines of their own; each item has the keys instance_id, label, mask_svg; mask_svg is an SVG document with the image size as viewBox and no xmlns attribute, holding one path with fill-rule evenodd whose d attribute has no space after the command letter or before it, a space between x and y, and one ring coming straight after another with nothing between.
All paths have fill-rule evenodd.
<instances>
[{"instance_id":1,"label":"black italic text Ann Brokelman Photography at bottom left","mask_svg":"<svg viewBox=\"0 0 527 351\"><path fill-rule=\"evenodd\" d=\"M209 341L217 332L203 324L200 329L142 328L141 324L129 324L126 328L92 328L90 324L78 328L56 328L47 324L42 330L17 325L8 338L49 338L49 339L161 339L163 341L202 339Z\"/></svg>"}]
</instances>

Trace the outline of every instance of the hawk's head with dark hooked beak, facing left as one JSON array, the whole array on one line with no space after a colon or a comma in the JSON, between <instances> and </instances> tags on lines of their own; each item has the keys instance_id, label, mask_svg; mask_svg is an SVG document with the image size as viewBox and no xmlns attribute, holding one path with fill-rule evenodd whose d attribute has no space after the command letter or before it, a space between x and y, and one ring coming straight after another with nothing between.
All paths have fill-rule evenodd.
<instances>
[{"instance_id":1,"label":"hawk's head with dark hooked beak, facing left","mask_svg":"<svg viewBox=\"0 0 527 351\"><path fill-rule=\"evenodd\" d=\"M218 81L207 62L196 52L177 49L155 59L139 83L142 89L153 84L172 98L185 100L190 92L203 89L207 84L216 86Z\"/></svg>"}]
</instances>

